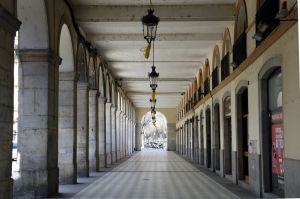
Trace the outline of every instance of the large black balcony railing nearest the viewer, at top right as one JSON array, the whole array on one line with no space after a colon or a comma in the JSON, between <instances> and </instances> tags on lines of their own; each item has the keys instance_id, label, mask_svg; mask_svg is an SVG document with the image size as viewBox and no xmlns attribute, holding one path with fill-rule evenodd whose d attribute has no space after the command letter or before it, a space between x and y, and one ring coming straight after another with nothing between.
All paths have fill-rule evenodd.
<instances>
[{"instance_id":1,"label":"large black balcony railing nearest the viewer, at top right","mask_svg":"<svg viewBox=\"0 0 300 199\"><path fill-rule=\"evenodd\" d=\"M258 46L279 25L275 19L279 11L279 0L266 0L256 13L256 34L261 37L256 40Z\"/></svg>"}]
</instances>

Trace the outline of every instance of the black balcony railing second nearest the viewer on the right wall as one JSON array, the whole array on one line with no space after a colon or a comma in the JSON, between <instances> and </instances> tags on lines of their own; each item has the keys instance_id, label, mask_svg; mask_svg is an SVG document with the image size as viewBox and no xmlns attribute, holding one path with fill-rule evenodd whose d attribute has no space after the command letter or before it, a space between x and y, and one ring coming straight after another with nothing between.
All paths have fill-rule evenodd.
<instances>
[{"instance_id":1,"label":"black balcony railing second nearest the viewer on the right wall","mask_svg":"<svg viewBox=\"0 0 300 199\"><path fill-rule=\"evenodd\" d=\"M233 62L238 67L247 58L247 35L243 32L233 45Z\"/></svg>"}]
</instances>

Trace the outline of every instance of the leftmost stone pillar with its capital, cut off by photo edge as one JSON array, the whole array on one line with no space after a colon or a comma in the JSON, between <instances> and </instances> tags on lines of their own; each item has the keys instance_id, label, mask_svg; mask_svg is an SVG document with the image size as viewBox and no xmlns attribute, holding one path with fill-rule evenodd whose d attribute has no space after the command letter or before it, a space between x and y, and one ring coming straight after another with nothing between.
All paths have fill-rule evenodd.
<instances>
[{"instance_id":1,"label":"leftmost stone pillar with its capital, cut off by photo edge","mask_svg":"<svg viewBox=\"0 0 300 199\"><path fill-rule=\"evenodd\" d=\"M7 6L9 4L14 5L14 1L8 1ZM8 199L13 195L14 37L20 22L1 5L0 19L0 198Z\"/></svg>"}]
</instances>

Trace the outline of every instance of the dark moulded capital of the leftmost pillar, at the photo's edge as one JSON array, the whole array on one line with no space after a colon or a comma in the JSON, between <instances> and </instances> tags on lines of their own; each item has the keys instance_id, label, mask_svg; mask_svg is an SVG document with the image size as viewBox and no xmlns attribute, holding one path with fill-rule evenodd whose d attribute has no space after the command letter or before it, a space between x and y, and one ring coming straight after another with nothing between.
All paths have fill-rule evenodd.
<instances>
[{"instance_id":1,"label":"dark moulded capital of the leftmost pillar, at the photo's edge","mask_svg":"<svg viewBox=\"0 0 300 199\"><path fill-rule=\"evenodd\" d=\"M21 22L0 5L0 26L13 35L20 29Z\"/></svg>"}]
</instances>

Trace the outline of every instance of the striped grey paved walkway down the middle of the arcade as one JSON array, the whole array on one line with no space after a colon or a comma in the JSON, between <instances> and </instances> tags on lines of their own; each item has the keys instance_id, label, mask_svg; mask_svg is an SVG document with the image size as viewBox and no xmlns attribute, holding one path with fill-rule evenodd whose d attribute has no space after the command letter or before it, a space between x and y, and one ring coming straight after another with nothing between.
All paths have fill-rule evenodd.
<instances>
[{"instance_id":1,"label":"striped grey paved walkway down the middle of the arcade","mask_svg":"<svg viewBox=\"0 0 300 199\"><path fill-rule=\"evenodd\" d=\"M236 185L233 185L236 186ZM74 199L239 198L174 152L135 153L77 193Z\"/></svg>"}]
</instances>

